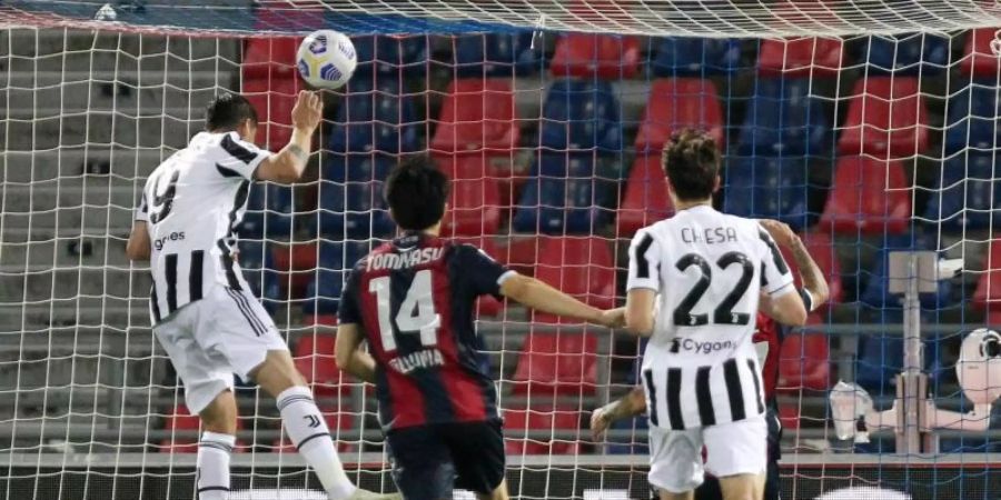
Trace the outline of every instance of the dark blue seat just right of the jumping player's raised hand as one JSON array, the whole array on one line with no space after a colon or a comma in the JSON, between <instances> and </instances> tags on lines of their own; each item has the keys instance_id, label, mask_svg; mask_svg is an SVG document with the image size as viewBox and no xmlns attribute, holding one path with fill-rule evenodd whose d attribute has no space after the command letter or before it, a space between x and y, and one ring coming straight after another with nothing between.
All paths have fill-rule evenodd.
<instances>
[{"instance_id":1,"label":"dark blue seat just right of the jumping player's raised hand","mask_svg":"<svg viewBox=\"0 0 1001 500\"><path fill-rule=\"evenodd\" d=\"M336 152L412 152L418 148L414 102L399 92L395 81L373 86L351 80L337 109L329 147Z\"/></svg>"}]
</instances>

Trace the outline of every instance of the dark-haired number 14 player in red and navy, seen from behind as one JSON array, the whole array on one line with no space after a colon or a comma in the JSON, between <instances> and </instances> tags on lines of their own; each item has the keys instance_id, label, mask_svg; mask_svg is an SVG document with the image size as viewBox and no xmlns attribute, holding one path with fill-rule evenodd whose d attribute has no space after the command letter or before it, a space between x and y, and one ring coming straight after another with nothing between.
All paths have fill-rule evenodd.
<instances>
[{"instance_id":1,"label":"dark-haired number 14 player in red and navy, seen from behind","mask_svg":"<svg viewBox=\"0 0 1001 500\"><path fill-rule=\"evenodd\" d=\"M608 327L621 326L624 311L595 309L476 247L440 239L448 190L427 156L389 174L386 201L402 234L358 261L347 279L337 364L376 384L393 477L406 499L448 499L459 487L504 500L504 437L473 326L476 299L503 296ZM370 354L359 349L363 341Z\"/></svg>"}]
</instances>

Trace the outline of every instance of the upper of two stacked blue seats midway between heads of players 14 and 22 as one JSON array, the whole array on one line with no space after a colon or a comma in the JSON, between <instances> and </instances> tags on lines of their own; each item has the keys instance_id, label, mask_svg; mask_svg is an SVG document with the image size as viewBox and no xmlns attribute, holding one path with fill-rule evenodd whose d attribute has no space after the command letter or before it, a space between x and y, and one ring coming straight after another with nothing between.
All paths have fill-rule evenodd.
<instances>
[{"instance_id":1,"label":"upper of two stacked blue seats midway between heads of players 14 and 22","mask_svg":"<svg viewBox=\"0 0 1001 500\"><path fill-rule=\"evenodd\" d=\"M622 114L607 81L562 79L553 82L543 104L543 148L622 150Z\"/></svg>"}]
</instances>

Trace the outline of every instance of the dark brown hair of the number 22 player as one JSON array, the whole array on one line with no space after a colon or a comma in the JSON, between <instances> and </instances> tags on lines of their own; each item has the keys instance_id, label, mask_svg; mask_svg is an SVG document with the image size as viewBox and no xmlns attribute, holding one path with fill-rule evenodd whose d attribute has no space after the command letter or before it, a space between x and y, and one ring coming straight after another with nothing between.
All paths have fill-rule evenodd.
<instances>
[{"instance_id":1,"label":"dark brown hair of the number 22 player","mask_svg":"<svg viewBox=\"0 0 1001 500\"><path fill-rule=\"evenodd\" d=\"M674 132L661 161L678 200L704 200L713 196L720 176L720 149L704 131Z\"/></svg>"}]
</instances>

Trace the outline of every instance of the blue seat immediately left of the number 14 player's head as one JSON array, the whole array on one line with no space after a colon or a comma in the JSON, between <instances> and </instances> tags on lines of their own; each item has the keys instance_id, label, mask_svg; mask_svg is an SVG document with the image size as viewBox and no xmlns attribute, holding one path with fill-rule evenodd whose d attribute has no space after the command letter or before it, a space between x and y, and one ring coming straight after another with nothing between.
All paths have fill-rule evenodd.
<instances>
[{"instance_id":1,"label":"blue seat immediately left of the number 14 player's head","mask_svg":"<svg viewBox=\"0 0 1001 500\"><path fill-rule=\"evenodd\" d=\"M387 154L331 154L319 187L319 234L340 240L392 233L383 181L394 164Z\"/></svg>"}]
</instances>

